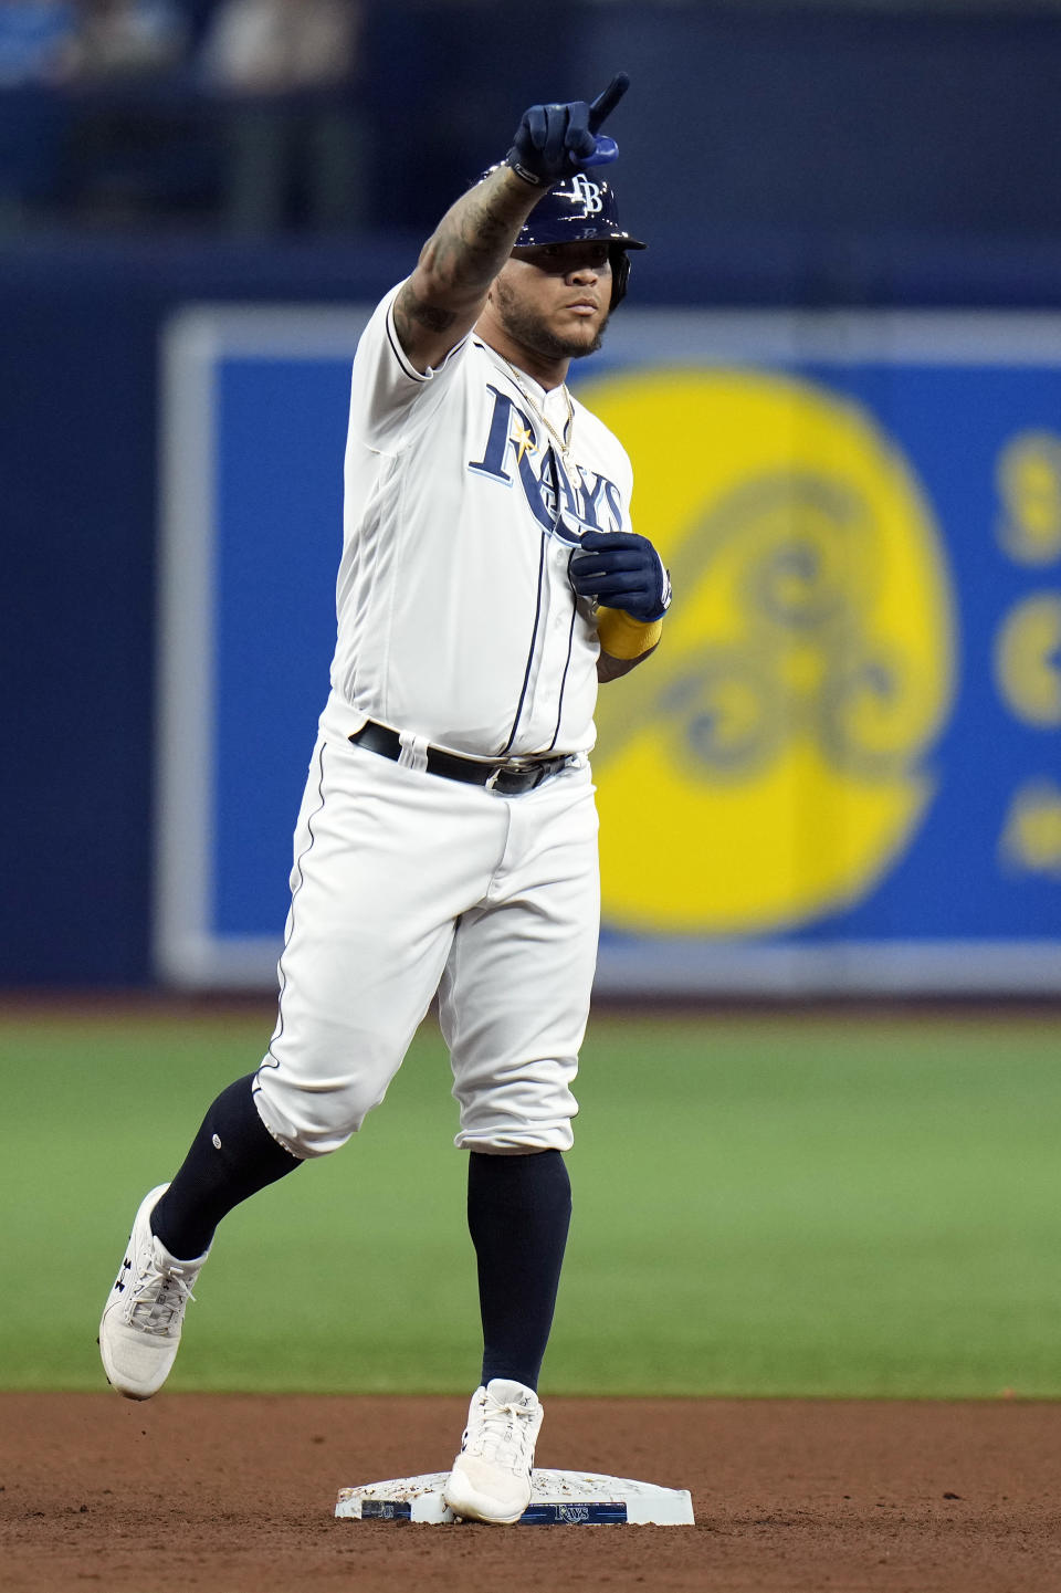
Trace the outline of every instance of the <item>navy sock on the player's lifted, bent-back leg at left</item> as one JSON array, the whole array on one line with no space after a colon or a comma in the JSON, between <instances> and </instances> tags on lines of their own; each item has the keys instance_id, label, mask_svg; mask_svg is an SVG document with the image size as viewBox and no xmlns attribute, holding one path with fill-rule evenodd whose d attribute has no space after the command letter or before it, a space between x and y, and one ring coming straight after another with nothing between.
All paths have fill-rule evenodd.
<instances>
[{"instance_id":1,"label":"navy sock on the player's lifted, bent-back leg at left","mask_svg":"<svg viewBox=\"0 0 1061 1593\"><path fill-rule=\"evenodd\" d=\"M151 1212L151 1233L178 1260L209 1251L213 1230L233 1206L303 1164L258 1117L250 1090L255 1078L247 1074L221 1090Z\"/></svg>"}]
</instances>

